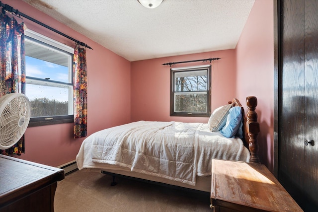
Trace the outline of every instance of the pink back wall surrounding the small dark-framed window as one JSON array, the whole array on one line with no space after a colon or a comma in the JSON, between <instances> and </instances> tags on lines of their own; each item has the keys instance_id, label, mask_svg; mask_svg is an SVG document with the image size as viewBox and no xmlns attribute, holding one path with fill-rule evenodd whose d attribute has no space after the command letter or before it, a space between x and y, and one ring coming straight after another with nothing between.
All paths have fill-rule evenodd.
<instances>
[{"instance_id":1,"label":"pink back wall surrounding the small dark-framed window","mask_svg":"<svg viewBox=\"0 0 318 212\"><path fill-rule=\"evenodd\" d=\"M131 121L179 121L207 123L209 118L170 117L170 67L161 64L221 58L212 62L212 111L235 98L235 50L166 57L131 63ZM206 65L178 64L172 68Z\"/></svg>"}]
</instances>

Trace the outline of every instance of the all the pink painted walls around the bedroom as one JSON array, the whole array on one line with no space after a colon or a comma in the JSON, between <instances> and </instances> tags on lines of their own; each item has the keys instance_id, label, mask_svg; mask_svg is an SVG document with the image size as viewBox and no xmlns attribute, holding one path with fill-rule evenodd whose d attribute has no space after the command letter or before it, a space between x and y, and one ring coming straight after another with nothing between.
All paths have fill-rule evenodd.
<instances>
[{"instance_id":1,"label":"all the pink painted walls around the bedroom","mask_svg":"<svg viewBox=\"0 0 318 212\"><path fill-rule=\"evenodd\" d=\"M88 69L88 135L130 121L206 123L208 118L169 116L170 67L163 63L219 57L212 69L212 111L236 97L258 98L258 140L261 160L273 166L273 1L256 0L235 50L129 62L22 0L2 0L15 9L91 46L86 50ZM24 19L28 28L69 46L70 41ZM176 67L209 63L180 64ZM73 125L28 128L26 153L34 162L59 166L75 159L83 139L73 139Z\"/></svg>"}]
</instances>

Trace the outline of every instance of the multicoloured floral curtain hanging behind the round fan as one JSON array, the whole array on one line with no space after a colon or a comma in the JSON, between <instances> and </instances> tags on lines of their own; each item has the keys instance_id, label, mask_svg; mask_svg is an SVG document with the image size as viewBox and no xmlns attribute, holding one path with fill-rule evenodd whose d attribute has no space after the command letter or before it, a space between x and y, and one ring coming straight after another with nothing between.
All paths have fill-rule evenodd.
<instances>
[{"instance_id":1,"label":"multicoloured floral curtain hanging behind the round fan","mask_svg":"<svg viewBox=\"0 0 318 212\"><path fill-rule=\"evenodd\" d=\"M25 49L23 23L0 14L0 97L8 93L25 94ZM1 154L24 153L24 135Z\"/></svg>"}]
</instances>

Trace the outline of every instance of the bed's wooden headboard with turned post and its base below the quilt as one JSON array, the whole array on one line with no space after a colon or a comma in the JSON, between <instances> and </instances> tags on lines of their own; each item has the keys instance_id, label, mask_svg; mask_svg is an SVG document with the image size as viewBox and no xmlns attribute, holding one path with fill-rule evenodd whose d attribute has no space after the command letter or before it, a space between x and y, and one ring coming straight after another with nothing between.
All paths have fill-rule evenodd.
<instances>
[{"instance_id":1,"label":"bed's wooden headboard with turned post and its base below the quilt","mask_svg":"<svg viewBox=\"0 0 318 212\"><path fill-rule=\"evenodd\" d=\"M259 163L258 157L258 143L257 143L257 135L259 133L259 123L257 122L257 113L255 112L255 108L257 106L257 98L255 96L248 96L246 97L246 106L247 106L247 113L246 117L244 114L244 108L240 104L238 99L233 99L232 101L228 102L228 104L234 104L234 106L241 107L242 115L244 117L243 122L243 135L244 138L242 139L244 145L248 147L251 156L249 162L252 163ZM172 186L172 187L182 187L183 189L191 189L196 191L203 191L203 192L211 192L211 176L207 177L199 177L197 176L196 185L191 186L188 184L184 184L181 182L168 180L165 178L145 175L138 172L132 172L128 168L118 167L116 165L106 165L102 168L94 168L89 169L90 171L97 171L104 174L110 174L113 176L113 182L111 186L116 185L115 176L126 177L126 178L133 178L136 180L147 181L155 184L165 185L165 186Z\"/></svg>"}]
</instances>

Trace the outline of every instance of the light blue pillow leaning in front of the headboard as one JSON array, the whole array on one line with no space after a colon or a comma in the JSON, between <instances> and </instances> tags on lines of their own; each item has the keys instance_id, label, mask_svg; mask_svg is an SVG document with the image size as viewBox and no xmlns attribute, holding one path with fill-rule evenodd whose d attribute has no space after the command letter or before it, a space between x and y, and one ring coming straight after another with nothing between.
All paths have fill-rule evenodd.
<instances>
[{"instance_id":1,"label":"light blue pillow leaning in front of the headboard","mask_svg":"<svg viewBox=\"0 0 318 212\"><path fill-rule=\"evenodd\" d=\"M238 130L242 120L240 107L233 107L229 111L226 125L222 128L221 134L227 138L233 138Z\"/></svg>"}]
</instances>

